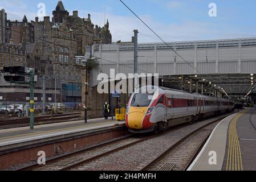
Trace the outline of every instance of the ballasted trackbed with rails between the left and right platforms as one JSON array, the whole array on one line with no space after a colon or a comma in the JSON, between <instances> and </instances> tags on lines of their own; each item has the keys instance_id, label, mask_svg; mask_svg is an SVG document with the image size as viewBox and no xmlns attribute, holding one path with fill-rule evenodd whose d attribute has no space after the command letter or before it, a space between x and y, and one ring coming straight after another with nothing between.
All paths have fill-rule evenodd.
<instances>
[{"instance_id":1,"label":"ballasted trackbed with rails between the left and right platforms","mask_svg":"<svg viewBox=\"0 0 256 182\"><path fill-rule=\"evenodd\" d=\"M165 169L174 169L174 167L176 167L177 170L184 170L191 162L193 157L197 154L197 151L202 146L202 143L204 143L205 139L208 138L209 134L211 133L212 129L207 129L207 127L214 125L220 120L221 119L216 119L211 122L206 120L208 122L204 124L203 122L187 124L185 126L170 129L165 133L148 137L134 137L134 135L132 135L50 159L47 161L47 165L45 166L34 164L19 170L156 170L161 168L164 169L164 167L168 165L171 167L165 167ZM207 132L202 132L202 130ZM181 135L176 136L179 134ZM164 141L162 140L164 138L172 141L170 136L173 136L172 139L174 142L167 141L166 144L169 144L167 148L162 147L164 150L161 150L159 147L154 147L154 145L156 146L160 142ZM198 140L198 138L200 138L200 140ZM162 144L164 145L164 142L162 142ZM136 148L139 148L139 150L136 151ZM145 154L136 153L139 153L141 150L143 150ZM150 153L154 150L158 152L157 155L147 154L147 152ZM186 154L184 152L185 150L187 151ZM175 156L175 151L176 155L178 154L178 158L175 159L176 161L174 162L176 162L176 164L174 165L174 162L168 163L168 160L170 159L168 156L170 156L170 154ZM134 158L124 159L129 155L134 155ZM147 160L144 160L143 162L136 162L136 159L141 158L141 156L145 157L147 155L149 155ZM179 161L180 163L178 163ZM122 168L121 166L123 165L126 166Z\"/></svg>"}]
</instances>

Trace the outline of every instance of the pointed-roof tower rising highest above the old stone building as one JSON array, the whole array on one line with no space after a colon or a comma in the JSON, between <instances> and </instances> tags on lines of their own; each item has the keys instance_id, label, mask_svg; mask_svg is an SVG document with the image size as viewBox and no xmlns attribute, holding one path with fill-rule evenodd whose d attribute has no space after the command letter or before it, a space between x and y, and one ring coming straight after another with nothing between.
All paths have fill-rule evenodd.
<instances>
[{"instance_id":1,"label":"pointed-roof tower rising highest above the old stone building","mask_svg":"<svg viewBox=\"0 0 256 182\"><path fill-rule=\"evenodd\" d=\"M55 10L52 11L52 15L54 16L53 17L54 23L62 23L63 19L67 19L68 15L70 14L68 13L67 10L65 10L62 1L59 1Z\"/></svg>"}]
</instances>

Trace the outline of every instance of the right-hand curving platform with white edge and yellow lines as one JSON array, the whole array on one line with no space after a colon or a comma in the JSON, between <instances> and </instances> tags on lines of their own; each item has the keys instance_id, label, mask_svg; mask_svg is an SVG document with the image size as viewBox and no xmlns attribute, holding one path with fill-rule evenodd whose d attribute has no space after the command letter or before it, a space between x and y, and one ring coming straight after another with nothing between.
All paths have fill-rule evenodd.
<instances>
[{"instance_id":1,"label":"right-hand curving platform with white edge and yellow lines","mask_svg":"<svg viewBox=\"0 0 256 182\"><path fill-rule=\"evenodd\" d=\"M223 119L188 171L256 170L256 110L246 108Z\"/></svg>"}]
</instances>

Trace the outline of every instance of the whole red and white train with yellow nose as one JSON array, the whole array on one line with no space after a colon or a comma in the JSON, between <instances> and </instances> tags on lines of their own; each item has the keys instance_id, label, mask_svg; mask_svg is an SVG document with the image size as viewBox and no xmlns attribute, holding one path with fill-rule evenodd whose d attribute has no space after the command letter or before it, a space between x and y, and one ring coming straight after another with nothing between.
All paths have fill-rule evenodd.
<instances>
[{"instance_id":1,"label":"whole red and white train with yellow nose","mask_svg":"<svg viewBox=\"0 0 256 182\"><path fill-rule=\"evenodd\" d=\"M144 86L132 94L127 105L125 123L132 133L159 132L233 109L234 102L231 100Z\"/></svg>"}]
</instances>

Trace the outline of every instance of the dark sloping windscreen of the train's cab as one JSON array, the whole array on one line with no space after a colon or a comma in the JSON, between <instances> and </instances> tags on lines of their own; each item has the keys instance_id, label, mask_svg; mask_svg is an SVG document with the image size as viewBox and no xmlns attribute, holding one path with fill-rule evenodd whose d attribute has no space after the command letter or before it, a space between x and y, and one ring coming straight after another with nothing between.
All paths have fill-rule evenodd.
<instances>
[{"instance_id":1,"label":"dark sloping windscreen of the train's cab","mask_svg":"<svg viewBox=\"0 0 256 182\"><path fill-rule=\"evenodd\" d=\"M153 94L149 93L138 93L132 99L132 107L147 107L152 100Z\"/></svg>"}]
</instances>

